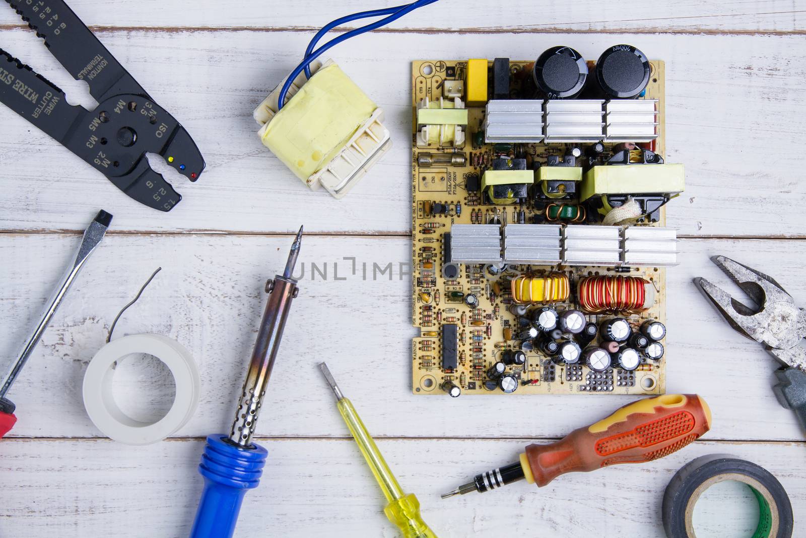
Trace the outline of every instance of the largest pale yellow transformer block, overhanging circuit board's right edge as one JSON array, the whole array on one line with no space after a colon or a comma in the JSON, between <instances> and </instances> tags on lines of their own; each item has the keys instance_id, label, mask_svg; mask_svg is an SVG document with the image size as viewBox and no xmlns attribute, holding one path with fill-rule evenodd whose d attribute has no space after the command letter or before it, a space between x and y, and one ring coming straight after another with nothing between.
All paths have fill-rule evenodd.
<instances>
[{"instance_id":1,"label":"largest pale yellow transformer block, overhanging circuit board's right edge","mask_svg":"<svg viewBox=\"0 0 806 538\"><path fill-rule=\"evenodd\" d=\"M580 200L597 194L678 194L685 190L683 165L601 165L585 173Z\"/></svg>"}]
</instances>

